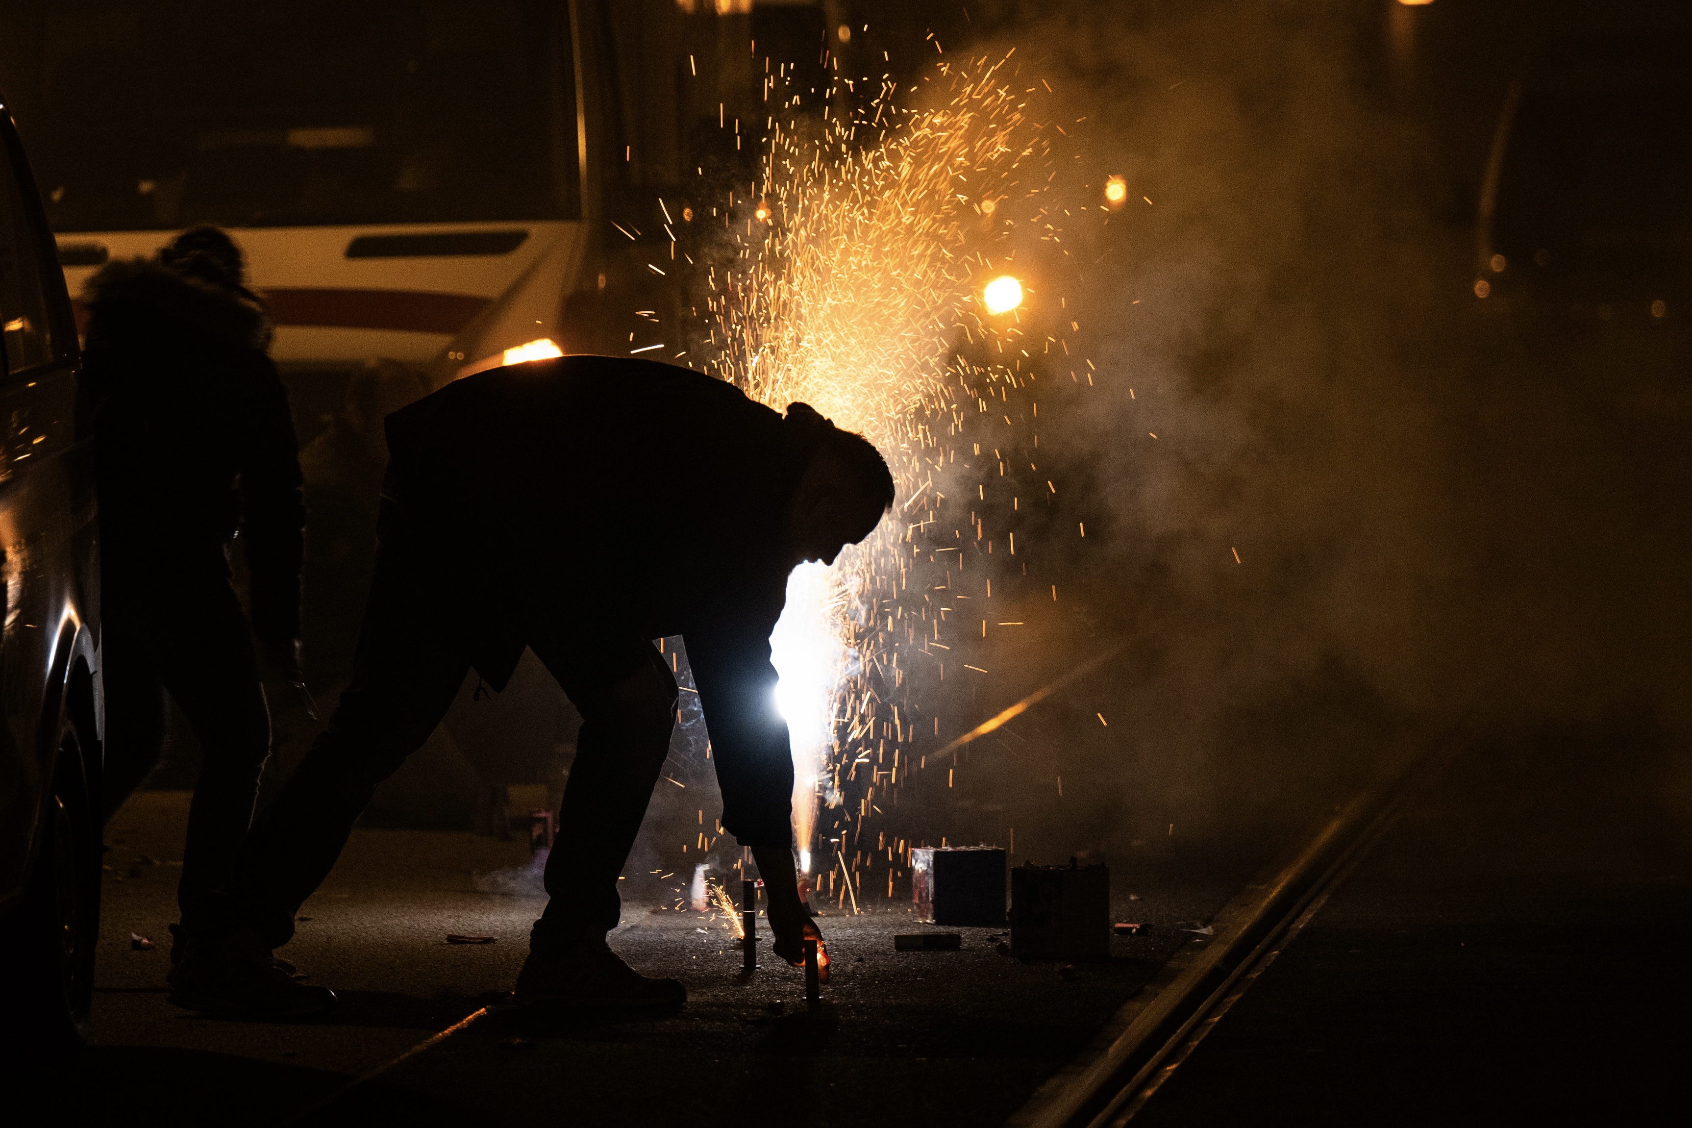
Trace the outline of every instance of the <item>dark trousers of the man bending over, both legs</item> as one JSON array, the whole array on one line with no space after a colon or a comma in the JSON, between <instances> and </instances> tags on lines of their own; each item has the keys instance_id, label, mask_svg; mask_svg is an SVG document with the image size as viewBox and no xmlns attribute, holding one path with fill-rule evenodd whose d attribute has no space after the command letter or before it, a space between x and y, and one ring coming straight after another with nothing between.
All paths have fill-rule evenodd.
<instances>
[{"instance_id":1,"label":"dark trousers of the man bending over, both legs","mask_svg":"<svg viewBox=\"0 0 1692 1128\"><path fill-rule=\"evenodd\" d=\"M494 582L459 575L452 548L431 521L403 502L382 502L371 599L352 685L328 729L266 807L242 851L239 884L218 927L247 928L266 947L286 944L299 905L340 856L376 785L430 737L470 670L464 590ZM557 956L621 915L618 876L658 781L675 722L675 680L651 646L629 632L585 629L579 592L521 585L516 621L525 641L582 714L558 834L547 861L547 912L531 947ZM558 585L553 585L557 589ZM481 600L477 600L481 602ZM469 624L474 627L475 624ZM641 709L619 709L613 687L650 663L662 692Z\"/></svg>"}]
</instances>

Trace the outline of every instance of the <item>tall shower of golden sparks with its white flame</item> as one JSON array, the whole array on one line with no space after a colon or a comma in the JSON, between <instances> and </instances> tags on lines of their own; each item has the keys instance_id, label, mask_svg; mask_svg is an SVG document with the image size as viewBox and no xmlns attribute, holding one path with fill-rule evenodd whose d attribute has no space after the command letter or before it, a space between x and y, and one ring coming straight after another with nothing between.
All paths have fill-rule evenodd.
<instances>
[{"instance_id":1,"label":"tall shower of golden sparks with its white flame","mask_svg":"<svg viewBox=\"0 0 1692 1128\"><path fill-rule=\"evenodd\" d=\"M1068 345L1025 325L1024 284L1005 274L1027 279L1019 250L1027 259L1039 247L1030 240L1058 242L1052 210L1039 200L1051 181L1047 135L1027 115L1027 83L1015 81L1008 57L939 64L898 101L883 78L868 105L848 112L843 91L829 90L821 120L797 98L777 107L773 90L766 85L760 179L724 211L733 257L700 264L700 337L709 370L778 411L802 401L861 431L898 485L895 509L863 545L832 568L794 572L770 639L792 737L800 864L826 874L821 896L844 903L856 901L853 873L870 859L851 849L865 819L926 764L919 737L939 734L937 719L919 731L905 700L910 665L922 656L934 663L924 676L944 678L951 646L966 643L942 641L953 631L939 607L948 600L927 594L946 590L942 572L961 578L964 524L971 560L992 551L990 539L975 545L988 514L971 509L976 487L949 487L968 497L946 506L948 475L970 463L983 474L988 462L961 436L978 426L970 416L990 409L995 426L1000 414L1005 426L1025 424L1027 404L1010 402L1007 389L1024 392L1039 357L1061 347L1064 360ZM1005 296L1005 282L1017 293L1000 308L993 298ZM1008 435L997 441L1008 448ZM956 517L946 529L942 511ZM966 616L948 622L968 632ZM819 842L822 805L836 832L827 842ZM885 854L888 888L893 869L909 866L909 844L895 842L873 852ZM817 849L836 856L812 866Z\"/></svg>"}]
</instances>

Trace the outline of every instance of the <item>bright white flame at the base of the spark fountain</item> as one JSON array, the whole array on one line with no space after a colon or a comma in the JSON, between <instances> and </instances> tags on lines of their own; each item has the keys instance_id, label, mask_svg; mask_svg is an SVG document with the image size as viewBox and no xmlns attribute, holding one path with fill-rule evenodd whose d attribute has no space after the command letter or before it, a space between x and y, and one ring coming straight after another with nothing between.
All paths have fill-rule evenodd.
<instances>
[{"instance_id":1,"label":"bright white flame at the base of the spark fountain","mask_svg":"<svg viewBox=\"0 0 1692 1128\"><path fill-rule=\"evenodd\" d=\"M799 868L810 873L810 834L817 817L817 776L834 739L834 687L846 661L836 578L827 565L802 563L787 577L787 605L770 634L770 661L780 680L775 707L787 720L794 753L794 832Z\"/></svg>"}]
</instances>

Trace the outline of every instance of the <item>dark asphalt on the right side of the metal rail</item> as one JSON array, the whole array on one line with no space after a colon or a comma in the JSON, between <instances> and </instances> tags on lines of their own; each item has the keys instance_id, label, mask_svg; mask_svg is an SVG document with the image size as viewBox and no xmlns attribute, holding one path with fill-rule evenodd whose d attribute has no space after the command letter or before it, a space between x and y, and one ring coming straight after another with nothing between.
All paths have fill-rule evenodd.
<instances>
[{"instance_id":1,"label":"dark asphalt on the right side of the metal rail","mask_svg":"<svg viewBox=\"0 0 1692 1128\"><path fill-rule=\"evenodd\" d=\"M1645 726L1469 751L1132 1123L1680 1123L1687 785Z\"/></svg>"}]
</instances>

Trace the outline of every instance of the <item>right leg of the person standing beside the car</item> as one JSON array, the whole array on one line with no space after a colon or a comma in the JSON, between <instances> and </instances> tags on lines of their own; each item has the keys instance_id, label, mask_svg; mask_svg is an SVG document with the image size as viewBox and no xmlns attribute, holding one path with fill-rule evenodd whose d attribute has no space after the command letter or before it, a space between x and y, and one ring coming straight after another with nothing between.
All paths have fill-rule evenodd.
<instances>
[{"instance_id":1,"label":"right leg of the person standing beside the car","mask_svg":"<svg viewBox=\"0 0 1692 1128\"><path fill-rule=\"evenodd\" d=\"M176 893L183 920L195 920L213 890L227 884L252 825L259 776L271 754L271 715L247 616L227 582L168 595L161 612L154 643L159 673L201 751Z\"/></svg>"}]
</instances>

